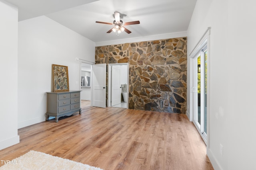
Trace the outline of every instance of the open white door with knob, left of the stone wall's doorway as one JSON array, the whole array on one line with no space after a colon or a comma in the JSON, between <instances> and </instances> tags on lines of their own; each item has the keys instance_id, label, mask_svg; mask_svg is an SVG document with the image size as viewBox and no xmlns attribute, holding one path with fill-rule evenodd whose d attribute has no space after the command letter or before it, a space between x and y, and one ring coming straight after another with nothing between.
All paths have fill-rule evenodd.
<instances>
[{"instance_id":1,"label":"open white door with knob, left of the stone wall's doorway","mask_svg":"<svg viewBox=\"0 0 256 170\"><path fill-rule=\"evenodd\" d=\"M92 106L106 108L106 64L92 65Z\"/></svg>"}]
</instances>

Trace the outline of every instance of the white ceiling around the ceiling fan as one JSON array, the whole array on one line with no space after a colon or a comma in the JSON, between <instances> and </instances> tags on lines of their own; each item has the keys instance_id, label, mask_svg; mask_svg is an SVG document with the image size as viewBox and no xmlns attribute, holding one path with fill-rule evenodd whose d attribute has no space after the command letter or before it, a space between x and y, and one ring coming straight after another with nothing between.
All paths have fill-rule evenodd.
<instances>
[{"instance_id":1,"label":"white ceiling around the ceiling fan","mask_svg":"<svg viewBox=\"0 0 256 170\"><path fill-rule=\"evenodd\" d=\"M45 15L98 43L187 31L196 0L5 0L18 6L19 21ZM114 12L120 12L132 31L106 33L112 25Z\"/></svg>"}]
</instances>

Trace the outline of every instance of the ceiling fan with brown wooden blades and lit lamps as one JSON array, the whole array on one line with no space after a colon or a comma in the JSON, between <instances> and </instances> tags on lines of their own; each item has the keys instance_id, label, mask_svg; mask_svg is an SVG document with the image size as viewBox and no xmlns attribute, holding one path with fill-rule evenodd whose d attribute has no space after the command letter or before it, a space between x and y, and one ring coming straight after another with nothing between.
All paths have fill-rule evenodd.
<instances>
[{"instance_id":1,"label":"ceiling fan with brown wooden blades and lit lamps","mask_svg":"<svg viewBox=\"0 0 256 170\"><path fill-rule=\"evenodd\" d=\"M111 28L107 33L111 33L114 31L115 33L122 33L125 31L126 33L131 33L130 30L126 29L124 25L134 25L134 24L139 24L140 21L131 21L131 22L126 22L124 23L122 20L120 20L120 13L119 12L114 12L115 20L113 23L108 23L108 22L101 22L101 21L96 21L96 23L104 23L104 24L109 24L109 25L114 25L113 28Z\"/></svg>"}]
</instances>

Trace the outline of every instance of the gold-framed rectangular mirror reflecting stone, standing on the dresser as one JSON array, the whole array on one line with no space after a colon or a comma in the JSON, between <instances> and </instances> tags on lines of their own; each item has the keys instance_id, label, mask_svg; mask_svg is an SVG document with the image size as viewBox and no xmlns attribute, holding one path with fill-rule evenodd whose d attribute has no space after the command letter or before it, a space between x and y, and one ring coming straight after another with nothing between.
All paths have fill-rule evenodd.
<instances>
[{"instance_id":1,"label":"gold-framed rectangular mirror reflecting stone, standing on the dresser","mask_svg":"<svg viewBox=\"0 0 256 170\"><path fill-rule=\"evenodd\" d=\"M54 92L69 91L68 66L52 64Z\"/></svg>"}]
</instances>

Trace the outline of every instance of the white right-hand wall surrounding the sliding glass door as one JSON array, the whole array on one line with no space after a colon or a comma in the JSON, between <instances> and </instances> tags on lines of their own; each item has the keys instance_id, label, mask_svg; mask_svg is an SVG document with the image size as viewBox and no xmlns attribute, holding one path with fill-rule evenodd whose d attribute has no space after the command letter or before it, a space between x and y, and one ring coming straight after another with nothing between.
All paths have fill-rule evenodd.
<instances>
[{"instance_id":1,"label":"white right-hand wall surrounding the sliding glass door","mask_svg":"<svg viewBox=\"0 0 256 170\"><path fill-rule=\"evenodd\" d=\"M254 0L197 0L188 27L188 54L207 27L212 27L207 154L216 170L256 169L255 5ZM192 95L189 57L188 104ZM220 144L223 145L223 156Z\"/></svg>"}]
</instances>

